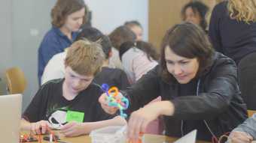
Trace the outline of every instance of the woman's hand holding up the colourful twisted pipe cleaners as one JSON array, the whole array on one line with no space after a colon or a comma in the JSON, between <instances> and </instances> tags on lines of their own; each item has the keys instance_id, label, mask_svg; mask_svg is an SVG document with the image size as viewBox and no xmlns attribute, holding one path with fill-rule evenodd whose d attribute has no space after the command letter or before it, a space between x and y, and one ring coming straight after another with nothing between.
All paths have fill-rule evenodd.
<instances>
[{"instance_id":1,"label":"woman's hand holding up the colourful twisted pipe cleaners","mask_svg":"<svg viewBox=\"0 0 256 143\"><path fill-rule=\"evenodd\" d=\"M102 109L105 112L107 112L108 114L114 115L117 112L118 108L113 106L108 106L107 99L108 99L108 95L104 93L99 97L99 103L101 104Z\"/></svg>"}]
</instances>

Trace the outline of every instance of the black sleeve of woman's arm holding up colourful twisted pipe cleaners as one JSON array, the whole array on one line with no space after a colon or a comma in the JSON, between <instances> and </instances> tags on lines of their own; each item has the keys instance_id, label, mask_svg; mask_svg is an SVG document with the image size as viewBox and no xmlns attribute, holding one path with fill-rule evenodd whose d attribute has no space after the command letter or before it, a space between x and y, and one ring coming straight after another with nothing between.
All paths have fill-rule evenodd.
<instances>
[{"instance_id":1,"label":"black sleeve of woman's arm holding up colourful twisted pipe cleaners","mask_svg":"<svg viewBox=\"0 0 256 143\"><path fill-rule=\"evenodd\" d=\"M154 67L153 70L142 76L131 88L123 91L123 94L130 100L130 106L126 111L128 114L160 96L160 77L157 76L158 67Z\"/></svg>"}]
</instances>

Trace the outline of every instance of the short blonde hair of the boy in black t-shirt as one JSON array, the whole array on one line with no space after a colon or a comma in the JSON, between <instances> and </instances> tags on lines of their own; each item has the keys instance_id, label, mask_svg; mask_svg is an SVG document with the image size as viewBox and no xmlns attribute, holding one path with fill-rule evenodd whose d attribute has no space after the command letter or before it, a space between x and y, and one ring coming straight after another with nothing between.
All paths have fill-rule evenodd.
<instances>
[{"instance_id":1,"label":"short blonde hair of the boy in black t-shirt","mask_svg":"<svg viewBox=\"0 0 256 143\"><path fill-rule=\"evenodd\" d=\"M101 70L105 60L102 46L90 40L78 40L70 46L65 65L83 76L95 76Z\"/></svg>"}]
</instances>

